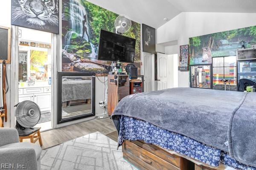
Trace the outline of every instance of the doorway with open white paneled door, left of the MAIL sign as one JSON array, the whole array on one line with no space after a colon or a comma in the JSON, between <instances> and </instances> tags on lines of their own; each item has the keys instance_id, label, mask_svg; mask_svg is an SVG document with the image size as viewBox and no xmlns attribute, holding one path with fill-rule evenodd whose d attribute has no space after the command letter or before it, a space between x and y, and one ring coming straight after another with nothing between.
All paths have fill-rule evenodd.
<instances>
[{"instance_id":1,"label":"doorway with open white paneled door, left of the MAIL sign","mask_svg":"<svg viewBox=\"0 0 256 170\"><path fill-rule=\"evenodd\" d=\"M157 90L178 87L178 54L157 53Z\"/></svg>"}]
</instances>

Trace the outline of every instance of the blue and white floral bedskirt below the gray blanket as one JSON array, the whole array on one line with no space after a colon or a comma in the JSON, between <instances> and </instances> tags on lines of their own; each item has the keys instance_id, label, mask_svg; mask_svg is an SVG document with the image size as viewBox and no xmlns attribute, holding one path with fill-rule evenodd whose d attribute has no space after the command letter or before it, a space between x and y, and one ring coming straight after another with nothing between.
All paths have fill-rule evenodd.
<instances>
[{"instance_id":1,"label":"blue and white floral bedskirt below the gray blanket","mask_svg":"<svg viewBox=\"0 0 256 170\"><path fill-rule=\"evenodd\" d=\"M214 167L223 163L240 170L256 170L239 163L222 150L207 146L186 136L164 130L143 120L128 116L120 117L119 144L125 140L143 140L166 149L189 156Z\"/></svg>"}]
</instances>

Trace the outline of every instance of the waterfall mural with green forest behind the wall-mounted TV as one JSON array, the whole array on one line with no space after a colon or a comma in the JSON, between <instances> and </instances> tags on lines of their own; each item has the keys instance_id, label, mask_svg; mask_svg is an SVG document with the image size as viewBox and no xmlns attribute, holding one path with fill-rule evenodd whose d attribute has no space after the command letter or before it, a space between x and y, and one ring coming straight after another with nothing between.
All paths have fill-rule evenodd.
<instances>
[{"instance_id":1,"label":"waterfall mural with green forest behind the wall-mounted TV","mask_svg":"<svg viewBox=\"0 0 256 170\"><path fill-rule=\"evenodd\" d=\"M111 62L97 60L99 33L101 29L114 32L117 16L86 0L63 0L62 71L110 71ZM123 35L136 39L134 64L140 74L140 24L132 21L130 30Z\"/></svg>"}]
</instances>

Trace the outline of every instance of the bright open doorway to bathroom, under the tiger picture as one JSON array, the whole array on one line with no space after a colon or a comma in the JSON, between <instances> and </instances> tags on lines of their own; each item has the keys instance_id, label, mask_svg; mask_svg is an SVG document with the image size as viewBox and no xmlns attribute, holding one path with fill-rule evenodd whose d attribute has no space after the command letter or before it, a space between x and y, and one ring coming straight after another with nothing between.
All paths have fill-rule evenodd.
<instances>
[{"instance_id":1,"label":"bright open doorway to bathroom, under the tiger picture","mask_svg":"<svg viewBox=\"0 0 256 170\"><path fill-rule=\"evenodd\" d=\"M52 129L52 34L18 27L18 102L30 100L41 110L35 127Z\"/></svg>"}]
</instances>

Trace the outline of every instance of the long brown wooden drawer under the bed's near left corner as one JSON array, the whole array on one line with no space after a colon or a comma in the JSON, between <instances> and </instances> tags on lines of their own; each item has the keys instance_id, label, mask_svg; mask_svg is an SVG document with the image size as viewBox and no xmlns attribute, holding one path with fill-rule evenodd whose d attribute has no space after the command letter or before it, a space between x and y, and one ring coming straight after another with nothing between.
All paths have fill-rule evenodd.
<instances>
[{"instance_id":1,"label":"long brown wooden drawer under the bed's near left corner","mask_svg":"<svg viewBox=\"0 0 256 170\"><path fill-rule=\"evenodd\" d=\"M123 153L125 156L135 160L138 164L145 167L145 169L152 170L180 170L174 164L161 159L160 157L150 153L148 150L126 140L123 143Z\"/></svg>"}]
</instances>

